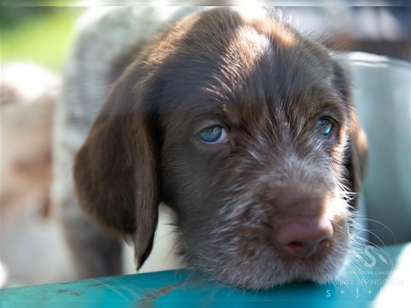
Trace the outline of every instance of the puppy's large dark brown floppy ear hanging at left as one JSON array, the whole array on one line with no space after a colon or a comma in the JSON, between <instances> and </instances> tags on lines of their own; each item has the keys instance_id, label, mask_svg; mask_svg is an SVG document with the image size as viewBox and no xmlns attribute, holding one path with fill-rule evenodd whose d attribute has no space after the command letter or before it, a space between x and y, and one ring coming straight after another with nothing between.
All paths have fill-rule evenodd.
<instances>
[{"instance_id":1,"label":"puppy's large dark brown floppy ear hanging at left","mask_svg":"<svg viewBox=\"0 0 411 308\"><path fill-rule=\"evenodd\" d=\"M156 111L145 75L129 68L113 85L73 174L86 213L111 233L134 237L139 267L152 249L160 202Z\"/></svg>"}]
</instances>

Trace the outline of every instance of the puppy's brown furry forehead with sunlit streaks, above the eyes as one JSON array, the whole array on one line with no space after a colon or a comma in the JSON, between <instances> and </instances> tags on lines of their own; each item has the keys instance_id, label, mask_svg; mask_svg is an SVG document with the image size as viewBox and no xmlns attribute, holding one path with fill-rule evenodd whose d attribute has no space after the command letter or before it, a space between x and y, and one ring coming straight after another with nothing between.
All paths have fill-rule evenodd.
<instances>
[{"instance_id":1,"label":"puppy's brown furry forehead with sunlit streaks, above the eyes","mask_svg":"<svg viewBox=\"0 0 411 308\"><path fill-rule=\"evenodd\" d=\"M274 17L211 10L179 37L166 89L176 112L223 117L235 105L259 113L319 93L339 100L328 51Z\"/></svg>"}]
</instances>

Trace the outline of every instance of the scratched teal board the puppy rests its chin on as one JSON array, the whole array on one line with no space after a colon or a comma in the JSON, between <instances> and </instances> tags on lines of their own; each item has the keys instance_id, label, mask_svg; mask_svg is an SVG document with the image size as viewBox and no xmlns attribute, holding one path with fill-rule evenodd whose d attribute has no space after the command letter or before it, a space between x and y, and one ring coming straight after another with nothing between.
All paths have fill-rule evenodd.
<instances>
[{"instance_id":1,"label":"scratched teal board the puppy rests its chin on","mask_svg":"<svg viewBox=\"0 0 411 308\"><path fill-rule=\"evenodd\" d=\"M135 304L143 301L166 302L167 306L177 307L181 307L181 301L214 302L225 307L230 303L238 306L239 302L246 305L310 301L312 306L318 307L321 306L319 303L327 302L333 305L350 302L350 306L361 303L364 306L364 302L384 300L384 294L387 298L400 300L401 296L411 292L411 243L387 247L382 251L369 248L364 253L363 259L357 260L358 265L348 267L350 270L340 279L326 285L293 283L270 291L251 292L212 282L192 269L179 269L6 288L0 291L0 295L4 307L42 301L111 302L109 307L113 307L114 302L127 301Z\"/></svg>"}]
</instances>

